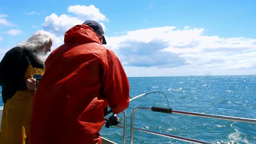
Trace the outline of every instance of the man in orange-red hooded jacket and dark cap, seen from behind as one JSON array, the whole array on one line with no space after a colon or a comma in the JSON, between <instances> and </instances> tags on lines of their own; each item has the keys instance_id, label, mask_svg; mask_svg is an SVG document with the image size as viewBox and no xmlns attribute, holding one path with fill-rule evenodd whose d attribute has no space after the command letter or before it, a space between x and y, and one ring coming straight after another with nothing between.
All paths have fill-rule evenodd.
<instances>
[{"instance_id":1,"label":"man in orange-red hooded jacket and dark cap, seen from behind","mask_svg":"<svg viewBox=\"0 0 256 144\"><path fill-rule=\"evenodd\" d=\"M104 109L129 105L129 82L102 26L85 21L65 33L46 59L33 99L30 144L101 144Z\"/></svg>"}]
</instances>

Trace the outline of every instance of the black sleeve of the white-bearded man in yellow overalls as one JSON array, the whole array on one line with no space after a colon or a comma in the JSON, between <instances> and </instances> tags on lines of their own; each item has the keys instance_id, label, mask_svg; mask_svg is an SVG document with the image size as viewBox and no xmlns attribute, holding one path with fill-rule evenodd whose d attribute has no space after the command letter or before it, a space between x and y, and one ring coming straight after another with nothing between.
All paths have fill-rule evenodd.
<instances>
[{"instance_id":1,"label":"black sleeve of the white-bearded man in yellow overalls","mask_svg":"<svg viewBox=\"0 0 256 144\"><path fill-rule=\"evenodd\" d=\"M26 90L26 80L23 78L27 66L22 49L10 49L0 62L0 85L7 89Z\"/></svg>"}]
</instances>

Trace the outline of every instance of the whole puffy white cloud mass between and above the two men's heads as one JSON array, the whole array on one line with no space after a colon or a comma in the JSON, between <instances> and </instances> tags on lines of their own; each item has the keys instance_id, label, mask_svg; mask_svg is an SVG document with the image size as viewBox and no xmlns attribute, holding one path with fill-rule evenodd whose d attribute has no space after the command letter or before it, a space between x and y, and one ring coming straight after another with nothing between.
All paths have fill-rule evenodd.
<instances>
[{"instance_id":1,"label":"whole puffy white cloud mass between and above the two men's heads","mask_svg":"<svg viewBox=\"0 0 256 144\"><path fill-rule=\"evenodd\" d=\"M106 17L93 5L90 5L89 7L80 5L70 6L67 10L69 13L74 13L76 16L66 14L57 16L55 13L53 13L50 16L47 16L42 24L43 28L53 35L52 50L63 44L64 33L71 27L82 24L85 20L106 20ZM105 28L104 23L100 24L104 31L106 31L107 29Z\"/></svg>"}]
</instances>

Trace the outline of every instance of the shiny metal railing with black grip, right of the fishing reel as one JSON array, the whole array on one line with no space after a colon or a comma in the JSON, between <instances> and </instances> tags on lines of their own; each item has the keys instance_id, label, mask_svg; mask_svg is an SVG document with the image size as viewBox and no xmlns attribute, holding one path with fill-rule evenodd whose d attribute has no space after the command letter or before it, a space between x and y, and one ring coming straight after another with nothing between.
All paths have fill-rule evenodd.
<instances>
[{"instance_id":1,"label":"shiny metal railing with black grip, right of the fishing reel","mask_svg":"<svg viewBox=\"0 0 256 144\"><path fill-rule=\"evenodd\" d=\"M135 111L137 111L138 109L145 109L145 110L151 110L151 111L162 112L162 113L178 113L178 114L193 115L193 116L206 117L206 118L217 118L217 119L224 119L224 120L230 120L230 121L242 121L242 122L256 123L256 119L249 119L249 118L237 118L237 117L229 117L229 116L222 116L222 115L200 114L200 113L187 112L187 111L175 111L175 110L172 110L171 108L162 108L162 107L151 107L151 108L136 107L131 112L131 137L130 137L131 144L133 144L133 131L141 131L141 132L145 132L145 133L149 133L149 134L155 134L155 135L160 135L160 136L164 136L164 137L171 137L171 138L181 140L181 141L193 142L195 144L213 144L213 143L206 142L206 141L199 141L199 140L195 140L195 139L191 139L191 138L187 138L187 137L180 137L180 136L173 135L173 134L167 134L167 133L162 133L162 132L157 132L157 131L136 128L133 126L133 117L134 117Z\"/></svg>"}]
</instances>

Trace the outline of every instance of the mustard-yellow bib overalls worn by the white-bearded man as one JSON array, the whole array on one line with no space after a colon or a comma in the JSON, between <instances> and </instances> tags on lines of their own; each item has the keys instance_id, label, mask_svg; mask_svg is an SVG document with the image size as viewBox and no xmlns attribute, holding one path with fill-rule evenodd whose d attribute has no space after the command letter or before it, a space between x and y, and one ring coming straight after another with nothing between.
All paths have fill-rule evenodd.
<instances>
[{"instance_id":1,"label":"mustard-yellow bib overalls worn by the white-bearded man","mask_svg":"<svg viewBox=\"0 0 256 144\"><path fill-rule=\"evenodd\" d=\"M24 79L42 76L45 69L30 64ZM0 144L27 144L34 90L17 91L3 107Z\"/></svg>"}]
</instances>

